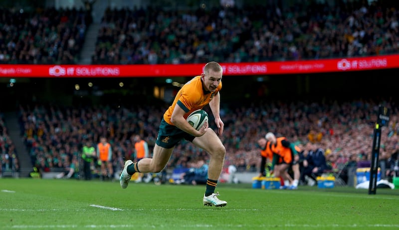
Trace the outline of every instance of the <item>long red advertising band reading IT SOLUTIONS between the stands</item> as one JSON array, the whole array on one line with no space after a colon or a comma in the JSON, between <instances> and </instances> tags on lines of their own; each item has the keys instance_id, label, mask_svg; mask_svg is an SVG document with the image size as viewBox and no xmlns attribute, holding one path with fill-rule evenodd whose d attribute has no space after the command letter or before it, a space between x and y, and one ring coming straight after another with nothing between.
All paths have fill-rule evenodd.
<instances>
[{"instance_id":1,"label":"long red advertising band reading IT SOLUTIONS between the stands","mask_svg":"<svg viewBox=\"0 0 399 230\"><path fill-rule=\"evenodd\" d=\"M220 63L223 75L303 74L399 68L399 55L307 61ZM0 77L174 77L195 76L203 64L0 65Z\"/></svg>"}]
</instances>

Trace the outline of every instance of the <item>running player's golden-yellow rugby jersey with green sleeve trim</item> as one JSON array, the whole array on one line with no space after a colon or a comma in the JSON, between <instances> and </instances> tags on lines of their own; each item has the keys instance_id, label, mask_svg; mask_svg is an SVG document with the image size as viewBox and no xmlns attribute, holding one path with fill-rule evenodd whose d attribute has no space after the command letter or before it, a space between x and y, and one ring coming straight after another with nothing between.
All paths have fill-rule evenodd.
<instances>
[{"instance_id":1,"label":"running player's golden-yellow rugby jersey with green sleeve trim","mask_svg":"<svg viewBox=\"0 0 399 230\"><path fill-rule=\"evenodd\" d=\"M216 95L220 89L221 81L214 92L204 91L201 76L194 77L179 90L172 105L164 113L164 120L168 124L174 125L171 122L171 117L176 104L186 112L184 118L187 119L192 112L202 109L203 106L209 104L213 96Z\"/></svg>"}]
</instances>

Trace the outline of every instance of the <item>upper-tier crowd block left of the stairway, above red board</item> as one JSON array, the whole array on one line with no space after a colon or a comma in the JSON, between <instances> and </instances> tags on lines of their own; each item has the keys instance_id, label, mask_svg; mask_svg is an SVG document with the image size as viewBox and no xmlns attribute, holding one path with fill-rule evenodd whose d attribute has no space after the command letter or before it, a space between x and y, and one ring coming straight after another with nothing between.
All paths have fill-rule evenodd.
<instances>
[{"instance_id":1,"label":"upper-tier crowd block left of the stairway, above red board","mask_svg":"<svg viewBox=\"0 0 399 230\"><path fill-rule=\"evenodd\" d=\"M0 64L76 64L86 33L87 12L0 7Z\"/></svg>"}]
</instances>

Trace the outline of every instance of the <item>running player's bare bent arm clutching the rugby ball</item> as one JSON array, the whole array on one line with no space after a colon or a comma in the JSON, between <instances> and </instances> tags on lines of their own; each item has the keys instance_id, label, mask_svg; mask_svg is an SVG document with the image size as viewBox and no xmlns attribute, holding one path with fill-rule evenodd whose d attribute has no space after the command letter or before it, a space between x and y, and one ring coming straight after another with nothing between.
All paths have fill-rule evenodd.
<instances>
[{"instance_id":1,"label":"running player's bare bent arm clutching the rugby ball","mask_svg":"<svg viewBox=\"0 0 399 230\"><path fill-rule=\"evenodd\" d=\"M205 134L206 130L208 129L208 123L205 122L200 130L196 130L189 124L186 118L184 118L185 113L186 112L178 104L176 104L171 116L172 123L179 129L185 131L186 133L190 133L195 137L200 137Z\"/></svg>"}]
</instances>

